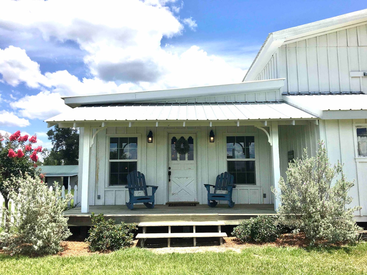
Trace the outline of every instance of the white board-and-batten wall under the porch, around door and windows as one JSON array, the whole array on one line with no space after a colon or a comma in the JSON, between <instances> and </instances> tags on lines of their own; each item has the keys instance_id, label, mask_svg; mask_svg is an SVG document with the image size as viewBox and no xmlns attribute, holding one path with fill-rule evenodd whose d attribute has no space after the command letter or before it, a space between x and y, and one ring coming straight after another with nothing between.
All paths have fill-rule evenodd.
<instances>
[{"instance_id":1,"label":"white board-and-batten wall under the porch, around door and windows","mask_svg":"<svg viewBox=\"0 0 367 275\"><path fill-rule=\"evenodd\" d=\"M215 132L215 143L209 143L210 129ZM153 143L146 142L149 129L153 132ZM95 132L96 130L93 130ZM197 194L198 201L207 203L207 190L204 183L215 184L218 174L226 171L225 135L254 135L257 139L257 185L237 185L233 191L236 203L273 203L270 186L271 147L264 132L254 126L193 126L193 127L108 127L98 132L91 147L89 203L90 205L124 205L128 199L128 190L119 186L108 186L108 135L136 134L140 139L138 169L145 174L146 182L159 186L155 198L156 204L165 204L168 199L167 168L169 132L197 133ZM80 175L81 176L81 175ZM80 188L81 189L81 188ZM78 190L79 191L79 190ZM149 192L149 191L148 191ZM266 198L263 198L266 194ZM97 196L100 196L100 199Z\"/></svg>"}]
</instances>

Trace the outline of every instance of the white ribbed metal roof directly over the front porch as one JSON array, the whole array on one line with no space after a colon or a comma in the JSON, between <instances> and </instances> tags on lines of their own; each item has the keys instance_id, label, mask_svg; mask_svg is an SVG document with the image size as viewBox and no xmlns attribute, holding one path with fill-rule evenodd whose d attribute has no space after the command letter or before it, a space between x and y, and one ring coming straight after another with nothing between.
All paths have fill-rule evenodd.
<instances>
[{"instance_id":1,"label":"white ribbed metal roof directly over the front porch","mask_svg":"<svg viewBox=\"0 0 367 275\"><path fill-rule=\"evenodd\" d=\"M76 107L46 122L218 121L312 119L316 116L285 102L95 104Z\"/></svg>"}]
</instances>

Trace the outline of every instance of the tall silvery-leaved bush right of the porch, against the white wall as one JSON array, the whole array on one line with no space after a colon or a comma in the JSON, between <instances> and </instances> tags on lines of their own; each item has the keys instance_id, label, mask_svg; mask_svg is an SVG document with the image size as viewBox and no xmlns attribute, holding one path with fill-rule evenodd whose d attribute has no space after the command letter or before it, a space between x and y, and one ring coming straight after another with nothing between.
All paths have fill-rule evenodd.
<instances>
[{"instance_id":1,"label":"tall silvery-leaved bush right of the porch, against the white wall","mask_svg":"<svg viewBox=\"0 0 367 275\"><path fill-rule=\"evenodd\" d=\"M289 163L287 182L280 178L280 192L272 188L281 200L280 222L304 232L310 245L356 241L360 227L353 212L361 207L348 208L352 202L348 191L354 181L346 180L342 168L339 161L331 166L324 143L319 142L316 157L309 158L304 149L301 159Z\"/></svg>"}]
</instances>

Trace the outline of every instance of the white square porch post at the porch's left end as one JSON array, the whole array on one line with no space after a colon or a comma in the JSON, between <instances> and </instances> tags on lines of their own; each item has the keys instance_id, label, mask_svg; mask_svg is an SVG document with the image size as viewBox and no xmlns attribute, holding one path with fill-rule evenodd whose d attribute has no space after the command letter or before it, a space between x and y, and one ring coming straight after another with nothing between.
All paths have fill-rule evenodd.
<instances>
[{"instance_id":1,"label":"white square porch post at the porch's left end","mask_svg":"<svg viewBox=\"0 0 367 275\"><path fill-rule=\"evenodd\" d=\"M89 212L88 180L89 180L90 135L91 135L90 125L84 126L83 164L81 175L81 213Z\"/></svg>"}]
</instances>

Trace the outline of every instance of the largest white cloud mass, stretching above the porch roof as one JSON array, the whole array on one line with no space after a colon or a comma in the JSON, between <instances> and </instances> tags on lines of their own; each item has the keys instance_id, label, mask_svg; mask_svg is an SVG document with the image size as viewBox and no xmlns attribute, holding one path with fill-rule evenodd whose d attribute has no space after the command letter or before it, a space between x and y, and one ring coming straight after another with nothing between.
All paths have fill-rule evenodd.
<instances>
[{"instance_id":1,"label":"largest white cloud mass, stretching above the porch roof","mask_svg":"<svg viewBox=\"0 0 367 275\"><path fill-rule=\"evenodd\" d=\"M236 56L208 54L196 45L161 47L163 37L182 35L182 23L197 27L191 17L181 23L174 15L182 7L176 0L3 0L0 30L17 41L75 41L90 70L90 78L81 80L66 70L42 74L24 49L0 49L2 81L39 89L12 98L10 106L23 117L46 119L69 110L63 96L240 82L247 65Z\"/></svg>"}]
</instances>

